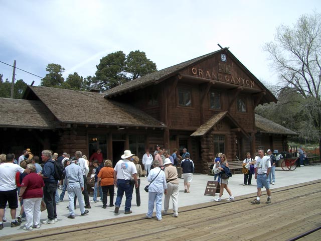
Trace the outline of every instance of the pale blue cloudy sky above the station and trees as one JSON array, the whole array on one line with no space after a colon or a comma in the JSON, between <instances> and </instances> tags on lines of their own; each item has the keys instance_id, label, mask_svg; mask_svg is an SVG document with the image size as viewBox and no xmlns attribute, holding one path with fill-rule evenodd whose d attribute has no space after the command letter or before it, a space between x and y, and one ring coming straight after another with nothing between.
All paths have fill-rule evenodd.
<instances>
[{"instance_id":1,"label":"pale blue cloudy sky above the station and trees","mask_svg":"<svg viewBox=\"0 0 321 241\"><path fill-rule=\"evenodd\" d=\"M224 3L226 2L226 3ZM163 69L230 47L265 84L277 82L264 43L276 27L292 26L303 14L320 12L306 1L71 1L0 0L0 61L44 77L49 63L93 76L99 60L116 51L140 50ZM4 79L13 68L0 63ZM41 79L16 71L27 84Z\"/></svg>"}]
</instances>

